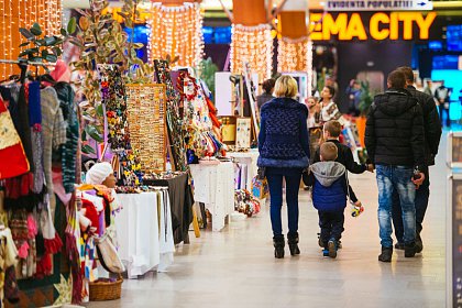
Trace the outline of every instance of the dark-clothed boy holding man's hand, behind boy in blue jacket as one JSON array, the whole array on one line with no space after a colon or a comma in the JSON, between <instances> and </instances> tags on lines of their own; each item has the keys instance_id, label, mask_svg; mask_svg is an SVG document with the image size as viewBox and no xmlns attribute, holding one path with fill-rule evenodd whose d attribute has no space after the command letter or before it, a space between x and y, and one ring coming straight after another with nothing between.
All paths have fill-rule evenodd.
<instances>
[{"instance_id":1,"label":"dark-clothed boy holding man's hand, behind boy in blue jacket","mask_svg":"<svg viewBox=\"0 0 462 308\"><path fill-rule=\"evenodd\" d=\"M339 123L339 121L332 120L332 121L328 121L324 123L323 127L323 138L327 142L332 142L338 150L338 157L336 160L336 162L342 164L343 166L345 166L346 170L353 173L353 174L362 174L365 170L370 170L373 172L374 170L374 166L373 165L360 165L356 162L354 162L353 160L353 154L351 153L350 147L348 147L346 145L340 143L339 141L339 136L340 133L342 131L342 125ZM320 157L319 157L319 148L316 151L315 153L315 157L312 163L318 163L320 162ZM354 199L356 199L356 196L354 195L353 189L350 188L350 193L351 193L351 197L354 197ZM356 199L356 201L354 202L354 206L356 208L361 208L361 201L359 201Z\"/></svg>"}]
</instances>

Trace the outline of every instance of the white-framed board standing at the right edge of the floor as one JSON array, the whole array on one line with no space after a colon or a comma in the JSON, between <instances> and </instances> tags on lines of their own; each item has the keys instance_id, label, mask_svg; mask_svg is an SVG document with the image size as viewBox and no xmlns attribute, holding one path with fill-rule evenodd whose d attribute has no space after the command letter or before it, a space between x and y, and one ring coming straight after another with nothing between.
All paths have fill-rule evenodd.
<instances>
[{"instance_id":1,"label":"white-framed board standing at the right edge of the floor","mask_svg":"<svg viewBox=\"0 0 462 308\"><path fill-rule=\"evenodd\" d=\"M462 174L448 184L447 223L447 305L462 308Z\"/></svg>"}]
</instances>

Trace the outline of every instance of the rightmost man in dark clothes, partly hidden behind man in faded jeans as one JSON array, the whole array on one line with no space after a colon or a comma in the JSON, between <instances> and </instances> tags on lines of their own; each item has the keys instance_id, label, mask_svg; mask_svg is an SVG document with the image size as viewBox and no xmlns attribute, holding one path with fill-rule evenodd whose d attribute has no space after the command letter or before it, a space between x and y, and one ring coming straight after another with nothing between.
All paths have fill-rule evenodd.
<instances>
[{"instance_id":1,"label":"rightmost man in dark clothes, partly hidden behind man in faded jeans","mask_svg":"<svg viewBox=\"0 0 462 308\"><path fill-rule=\"evenodd\" d=\"M428 207L428 199L430 196L430 177L428 167L435 165L435 156L438 154L438 147L441 139L441 123L438 117L437 106L433 97L425 92L418 91L414 85L414 72L408 66L398 68L406 77L406 89L411 96L417 99L424 113L424 135L425 135L425 165L421 170L425 174L422 185L416 191L416 252L420 253L424 249L420 232L422 231L422 221L425 212ZM399 206L399 196L393 196L393 226L395 228L395 235L398 243L395 244L396 249L404 249L403 243L403 217Z\"/></svg>"}]
</instances>

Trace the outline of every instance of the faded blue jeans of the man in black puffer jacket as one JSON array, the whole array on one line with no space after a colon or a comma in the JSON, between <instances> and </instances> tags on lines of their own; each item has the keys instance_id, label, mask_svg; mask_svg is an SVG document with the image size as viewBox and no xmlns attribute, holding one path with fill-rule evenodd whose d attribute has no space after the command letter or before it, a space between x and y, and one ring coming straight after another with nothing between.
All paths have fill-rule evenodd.
<instances>
[{"instance_id":1,"label":"faded blue jeans of the man in black puffer jacket","mask_svg":"<svg viewBox=\"0 0 462 308\"><path fill-rule=\"evenodd\" d=\"M392 248L392 205L393 193L397 191L402 206L404 242L413 244L416 240L416 186L411 178L414 170L409 166L377 165L378 186L378 227L381 244Z\"/></svg>"}]
</instances>

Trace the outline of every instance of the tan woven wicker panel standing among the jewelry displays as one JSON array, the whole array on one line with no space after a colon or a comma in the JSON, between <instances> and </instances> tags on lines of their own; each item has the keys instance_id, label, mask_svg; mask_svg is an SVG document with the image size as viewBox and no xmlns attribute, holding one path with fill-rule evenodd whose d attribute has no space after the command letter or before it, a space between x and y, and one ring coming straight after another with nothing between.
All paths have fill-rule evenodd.
<instances>
[{"instance_id":1,"label":"tan woven wicker panel standing among the jewelry displays","mask_svg":"<svg viewBox=\"0 0 462 308\"><path fill-rule=\"evenodd\" d=\"M130 142L140 151L143 172L164 172L165 85L127 85L127 109Z\"/></svg>"}]
</instances>

